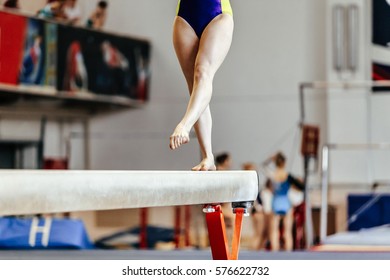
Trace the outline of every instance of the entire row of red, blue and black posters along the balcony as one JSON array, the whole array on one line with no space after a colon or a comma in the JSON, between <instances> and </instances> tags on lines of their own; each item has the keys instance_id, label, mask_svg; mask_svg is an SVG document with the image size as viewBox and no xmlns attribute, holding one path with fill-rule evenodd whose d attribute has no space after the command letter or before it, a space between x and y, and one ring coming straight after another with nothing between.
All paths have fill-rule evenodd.
<instances>
[{"instance_id":1,"label":"entire row of red, blue and black posters along the balcony","mask_svg":"<svg viewBox=\"0 0 390 280\"><path fill-rule=\"evenodd\" d=\"M149 69L148 41L0 11L0 86L144 102Z\"/></svg>"}]
</instances>

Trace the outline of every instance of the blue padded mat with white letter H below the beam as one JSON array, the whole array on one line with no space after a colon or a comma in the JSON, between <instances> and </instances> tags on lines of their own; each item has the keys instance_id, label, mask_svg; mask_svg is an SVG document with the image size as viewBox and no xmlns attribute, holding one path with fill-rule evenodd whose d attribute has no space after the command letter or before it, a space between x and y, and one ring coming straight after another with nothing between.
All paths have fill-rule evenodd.
<instances>
[{"instance_id":1,"label":"blue padded mat with white letter H below the beam","mask_svg":"<svg viewBox=\"0 0 390 280\"><path fill-rule=\"evenodd\" d=\"M38 228L47 226L48 243L45 234ZM49 221L51 222L50 226ZM88 238L81 220L44 219L44 218L0 218L0 249L92 249L94 246Z\"/></svg>"}]
</instances>

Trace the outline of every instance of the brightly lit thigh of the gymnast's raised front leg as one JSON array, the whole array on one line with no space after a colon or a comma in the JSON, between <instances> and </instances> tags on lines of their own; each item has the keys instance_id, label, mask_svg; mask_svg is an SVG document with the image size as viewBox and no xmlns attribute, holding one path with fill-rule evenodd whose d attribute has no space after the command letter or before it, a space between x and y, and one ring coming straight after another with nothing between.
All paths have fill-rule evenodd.
<instances>
[{"instance_id":1,"label":"brightly lit thigh of the gymnast's raised front leg","mask_svg":"<svg viewBox=\"0 0 390 280\"><path fill-rule=\"evenodd\" d=\"M233 28L229 14L221 14L209 23L200 38L196 66L205 66L210 74L215 74L230 49Z\"/></svg>"}]
</instances>

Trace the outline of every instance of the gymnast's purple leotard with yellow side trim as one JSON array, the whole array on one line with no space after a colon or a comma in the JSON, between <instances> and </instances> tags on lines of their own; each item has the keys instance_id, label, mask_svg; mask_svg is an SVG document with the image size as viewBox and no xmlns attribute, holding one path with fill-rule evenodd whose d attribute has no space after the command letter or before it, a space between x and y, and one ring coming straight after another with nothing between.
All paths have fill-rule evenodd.
<instances>
[{"instance_id":1,"label":"gymnast's purple leotard with yellow side trim","mask_svg":"<svg viewBox=\"0 0 390 280\"><path fill-rule=\"evenodd\" d=\"M218 15L233 15L229 0L179 0L177 15L194 29L200 38L207 25Z\"/></svg>"}]
</instances>

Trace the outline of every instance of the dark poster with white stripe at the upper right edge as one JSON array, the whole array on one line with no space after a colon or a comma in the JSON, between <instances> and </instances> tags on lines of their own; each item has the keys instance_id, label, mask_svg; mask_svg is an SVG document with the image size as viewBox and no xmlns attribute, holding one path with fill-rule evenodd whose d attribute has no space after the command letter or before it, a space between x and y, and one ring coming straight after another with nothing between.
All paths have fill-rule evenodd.
<instances>
[{"instance_id":1,"label":"dark poster with white stripe at the upper right edge","mask_svg":"<svg viewBox=\"0 0 390 280\"><path fill-rule=\"evenodd\" d=\"M372 80L390 80L390 0L372 0ZM373 91L389 91L390 87Z\"/></svg>"}]
</instances>

